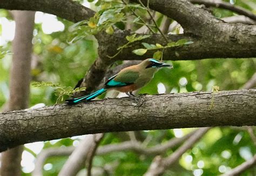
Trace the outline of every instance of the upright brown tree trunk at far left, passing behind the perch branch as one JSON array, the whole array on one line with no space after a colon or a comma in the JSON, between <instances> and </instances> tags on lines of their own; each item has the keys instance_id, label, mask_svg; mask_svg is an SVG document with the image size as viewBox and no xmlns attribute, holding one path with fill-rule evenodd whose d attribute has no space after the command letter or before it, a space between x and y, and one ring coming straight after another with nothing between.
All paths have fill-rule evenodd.
<instances>
[{"instance_id":1,"label":"upright brown tree trunk at far left, passing behind the perch branch","mask_svg":"<svg viewBox=\"0 0 256 176\"><path fill-rule=\"evenodd\" d=\"M28 107L32 50L31 40L35 18L35 12L14 11L13 14L16 22L16 30L12 46L14 55L10 72L9 111ZM12 127L10 126L10 128ZM21 175L22 152L23 146L17 146L2 153L2 175Z\"/></svg>"}]
</instances>

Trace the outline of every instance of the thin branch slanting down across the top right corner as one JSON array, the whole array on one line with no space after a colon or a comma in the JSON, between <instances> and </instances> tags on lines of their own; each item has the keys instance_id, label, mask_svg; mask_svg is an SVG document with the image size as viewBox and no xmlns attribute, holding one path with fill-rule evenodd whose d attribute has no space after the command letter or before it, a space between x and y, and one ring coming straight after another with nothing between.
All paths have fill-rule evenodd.
<instances>
[{"instance_id":1,"label":"thin branch slanting down across the top right corner","mask_svg":"<svg viewBox=\"0 0 256 176\"><path fill-rule=\"evenodd\" d=\"M206 7L208 6L213 6L215 8L222 8L222 9L227 9L227 10L231 10L233 12L236 12L240 15L244 15L246 17L249 17L251 19L253 19L254 21L256 21L256 15L254 15L252 12L241 8L239 6L235 6L231 3L227 3L227 2L223 2L223 1L212 1L212 0L190 0L191 3L193 4L204 4Z\"/></svg>"}]
</instances>

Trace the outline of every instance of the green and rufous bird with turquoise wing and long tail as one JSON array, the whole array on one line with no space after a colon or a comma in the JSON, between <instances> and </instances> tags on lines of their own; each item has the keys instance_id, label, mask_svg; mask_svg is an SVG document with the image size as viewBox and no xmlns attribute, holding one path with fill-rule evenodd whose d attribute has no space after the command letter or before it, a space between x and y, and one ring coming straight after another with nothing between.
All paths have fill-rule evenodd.
<instances>
[{"instance_id":1,"label":"green and rufous bird with turquoise wing and long tail","mask_svg":"<svg viewBox=\"0 0 256 176\"><path fill-rule=\"evenodd\" d=\"M125 92L127 96L134 98L134 94L132 92L149 83L153 78L154 73L156 73L161 67L172 68L172 65L160 62L154 58L145 59L138 65L125 67L116 75L110 77L102 89L83 97L67 99L66 104L77 104L82 101L89 101L98 97L107 90Z\"/></svg>"}]
</instances>

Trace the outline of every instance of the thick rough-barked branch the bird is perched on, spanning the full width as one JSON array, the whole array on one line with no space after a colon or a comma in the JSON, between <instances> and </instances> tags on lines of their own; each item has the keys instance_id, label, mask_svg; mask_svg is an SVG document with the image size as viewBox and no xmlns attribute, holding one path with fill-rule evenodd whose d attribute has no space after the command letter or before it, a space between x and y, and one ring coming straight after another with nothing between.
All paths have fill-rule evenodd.
<instances>
[{"instance_id":1,"label":"thick rough-barked branch the bird is perched on, spanning the full width","mask_svg":"<svg viewBox=\"0 0 256 176\"><path fill-rule=\"evenodd\" d=\"M214 96L211 111L208 107ZM112 131L256 123L256 90L191 92L0 113L0 151L19 144ZM90 111L89 111L90 110ZM156 111L154 111L156 110ZM65 129L65 130L63 130Z\"/></svg>"}]
</instances>

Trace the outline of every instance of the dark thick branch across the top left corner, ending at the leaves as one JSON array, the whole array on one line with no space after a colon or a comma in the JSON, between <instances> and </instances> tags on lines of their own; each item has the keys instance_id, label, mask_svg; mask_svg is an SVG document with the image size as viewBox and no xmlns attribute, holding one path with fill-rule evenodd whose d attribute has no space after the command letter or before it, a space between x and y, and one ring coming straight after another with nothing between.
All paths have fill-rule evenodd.
<instances>
[{"instance_id":1,"label":"dark thick branch across the top left corner, ending at the leaves","mask_svg":"<svg viewBox=\"0 0 256 176\"><path fill-rule=\"evenodd\" d=\"M89 19L95 13L77 2L66 0L1 1L0 9L42 11L75 23Z\"/></svg>"}]
</instances>

